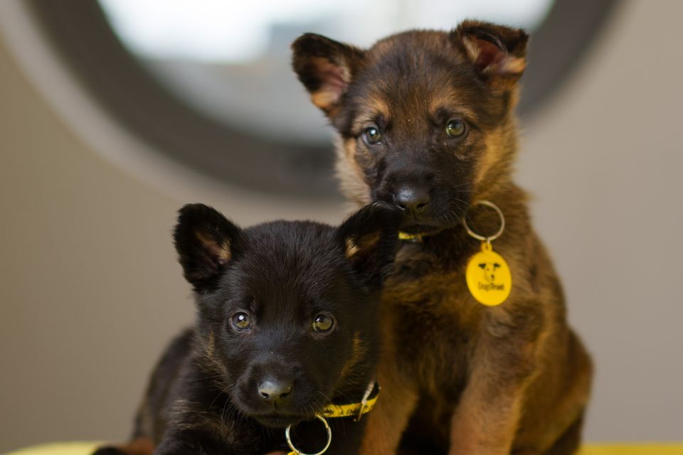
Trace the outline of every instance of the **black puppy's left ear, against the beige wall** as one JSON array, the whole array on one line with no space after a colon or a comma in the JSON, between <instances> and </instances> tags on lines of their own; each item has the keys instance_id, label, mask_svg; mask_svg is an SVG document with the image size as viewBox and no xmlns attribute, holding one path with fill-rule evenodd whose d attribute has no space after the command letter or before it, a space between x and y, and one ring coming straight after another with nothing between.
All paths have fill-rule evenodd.
<instances>
[{"instance_id":1,"label":"black puppy's left ear, against the beige wall","mask_svg":"<svg viewBox=\"0 0 683 455\"><path fill-rule=\"evenodd\" d=\"M212 289L223 267L238 254L242 230L217 210L203 204L185 205L173 233L185 279L197 292Z\"/></svg>"}]
</instances>

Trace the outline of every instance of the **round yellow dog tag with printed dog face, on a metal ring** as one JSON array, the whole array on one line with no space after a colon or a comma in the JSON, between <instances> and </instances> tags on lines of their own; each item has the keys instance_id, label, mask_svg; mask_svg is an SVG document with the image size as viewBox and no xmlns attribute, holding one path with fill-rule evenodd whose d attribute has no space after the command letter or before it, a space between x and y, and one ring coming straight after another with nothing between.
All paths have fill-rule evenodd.
<instances>
[{"instance_id":1,"label":"round yellow dog tag with printed dog face, on a metal ring","mask_svg":"<svg viewBox=\"0 0 683 455\"><path fill-rule=\"evenodd\" d=\"M482 250L470 257L465 278L472 296L487 306L502 304L512 289L510 267L490 242L482 242Z\"/></svg>"}]
</instances>

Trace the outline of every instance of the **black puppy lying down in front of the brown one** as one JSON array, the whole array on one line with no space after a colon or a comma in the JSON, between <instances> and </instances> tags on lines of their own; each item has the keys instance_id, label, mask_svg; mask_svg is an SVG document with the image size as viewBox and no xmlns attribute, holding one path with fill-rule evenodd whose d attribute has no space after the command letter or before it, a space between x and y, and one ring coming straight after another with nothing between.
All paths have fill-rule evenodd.
<instances>
[{"instance_id":1,"label":"black puppy lying down in front of the brown one","mask_svg":"<svg viewBox=\"0 0 683 455\"><path fill-rule=\"evenodd\" d=\"M377 310L397 244L398 214L368 205L339 228L277 221L242 230L186 205L174 232L194 287L194 329L157 366L132 440L104 454L318 452L317 415L359 403L373 384ZM374 391L376 393L377 390ZM364 419L329 419L327 454L354 454Z\"/></svg>"}]
</instances>

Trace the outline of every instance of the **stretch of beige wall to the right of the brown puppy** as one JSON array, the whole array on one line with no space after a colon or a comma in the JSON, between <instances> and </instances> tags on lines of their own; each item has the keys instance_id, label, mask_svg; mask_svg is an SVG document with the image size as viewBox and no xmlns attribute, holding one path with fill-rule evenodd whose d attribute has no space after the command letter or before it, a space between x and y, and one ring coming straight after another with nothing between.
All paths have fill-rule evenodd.
<instances>
[{"instance_id":1,"label":"stretch of beige wall to the right of the brown puppy","mask_svg":"<svg viewBox=\"0 0 683 455\"><path fill-rule=\"evenodd\" d=\"M681 18L625 4L526 128L521 181L597 365L588 439L683 440Z\"/></svg>"}]
</instances>

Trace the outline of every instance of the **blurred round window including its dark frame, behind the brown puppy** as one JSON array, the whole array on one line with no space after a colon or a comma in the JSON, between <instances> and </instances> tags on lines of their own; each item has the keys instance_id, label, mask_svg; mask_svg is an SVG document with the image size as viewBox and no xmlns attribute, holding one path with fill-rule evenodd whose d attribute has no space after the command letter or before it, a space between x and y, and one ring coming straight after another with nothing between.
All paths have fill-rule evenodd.
<instances>
[{"instance_id":1,"label":"blurred round window including its dark frame, behind the brown puppy","mask_svg":"<svg viewBox=\"0 0 683 455\"><path fill-rule=\"evenodd\" d=\"M519 112L538 109L618 0L28 0L90 95L121 127L194 171L265 194L337 196L331 129L290 68L312 31L371 45L477 17L527 28Z\"/></svg>"}]
</instances>

